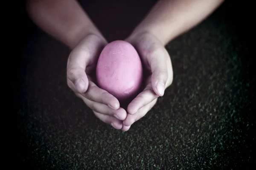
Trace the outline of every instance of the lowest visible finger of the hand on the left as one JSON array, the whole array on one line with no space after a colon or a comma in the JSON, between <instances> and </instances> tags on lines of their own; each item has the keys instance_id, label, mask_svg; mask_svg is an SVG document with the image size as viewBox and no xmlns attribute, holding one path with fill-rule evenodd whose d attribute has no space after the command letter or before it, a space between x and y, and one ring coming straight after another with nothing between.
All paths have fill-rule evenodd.
<instances>
[{"instance_id":1,"label":"lowest visible finger of the hand on the left","mask_svg":"<svg viewBox=\"0 0 256 170\"><path fill-rule=\"evenodd\" d=\"M122 121L114 118L113 116L108 116L105 114L98 113L96 111L93 111L96 117L98 117L102 122L105 122L111 126L113 126L116 129L122 128Z\"/></svg>"}]
</instances>

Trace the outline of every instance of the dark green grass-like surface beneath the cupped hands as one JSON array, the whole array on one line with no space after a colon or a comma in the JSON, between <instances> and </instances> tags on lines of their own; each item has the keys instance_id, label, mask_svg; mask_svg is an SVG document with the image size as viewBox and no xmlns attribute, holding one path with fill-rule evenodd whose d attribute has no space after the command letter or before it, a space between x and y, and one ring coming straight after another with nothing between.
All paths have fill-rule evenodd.
<instances>
[{"instance_id":1,"label":"dark green grass-like surface beneath the cupped hands","mask_svg":"<svg viewBox=\"0 0 256 170\"><path fill-rule=\"evenodd\" d=\"M239 36L212 16L170 42L173 84L122 132L97 119L70 91L69 50L36 31L17 74L20 167L246 169L255 161L255 78Z\"/></svg>"}]
</instances>

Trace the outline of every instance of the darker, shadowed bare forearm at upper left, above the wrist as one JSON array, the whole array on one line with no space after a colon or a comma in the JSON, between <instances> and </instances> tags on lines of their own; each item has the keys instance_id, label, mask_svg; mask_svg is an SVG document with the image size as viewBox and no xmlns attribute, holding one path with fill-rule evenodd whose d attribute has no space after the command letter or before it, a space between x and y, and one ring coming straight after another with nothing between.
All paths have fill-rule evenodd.
<instances>
[{"instance_id":1,"label":"darker, shadowed bare forearm at upper left, above the wrist","mask_svg":"<svg viewBox=\"0 0 256 170\"><path fill-rule=\"evenodd\" d=\"M76 0L27 0L26 9L39 28L70 48L87 34L101 36Z\"/></svg>"}]
</instances>

